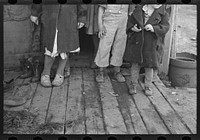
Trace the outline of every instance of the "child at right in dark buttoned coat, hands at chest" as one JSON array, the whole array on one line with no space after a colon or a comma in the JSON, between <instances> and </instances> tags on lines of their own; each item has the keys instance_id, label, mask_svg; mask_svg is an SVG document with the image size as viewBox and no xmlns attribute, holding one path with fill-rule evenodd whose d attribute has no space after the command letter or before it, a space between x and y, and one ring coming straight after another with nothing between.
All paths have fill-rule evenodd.
<instances>
[{"instance_id":1,"label":"child at right in dark buttoned coat, hands at chest","mask_svg":"<svg viewBox=\"0 0 200 140\"><path fill-rule=\"evenodd\" d=\"M169 17L163 5L137 5L128 19L128 41L124 60L131 62L129 93L136 93L141 67L145 68L145 94L152 95L153 69L158 69L163 54Z\"/></svg>"}]
</instances>

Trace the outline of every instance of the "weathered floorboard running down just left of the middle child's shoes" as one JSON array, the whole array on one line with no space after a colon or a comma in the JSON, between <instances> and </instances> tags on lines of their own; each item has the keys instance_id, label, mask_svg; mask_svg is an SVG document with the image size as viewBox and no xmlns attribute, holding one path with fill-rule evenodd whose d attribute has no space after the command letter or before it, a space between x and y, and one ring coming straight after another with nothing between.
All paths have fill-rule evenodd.
<instances>
[{"instance_id":1,"label":"weathered floorboard running down just left of the middle child's shoes","mask_svg":"<svg viewBox=\"0 0 200 140\"><path fill-rule=\"evenodd\" d=\"M83 69L85 97L85 117L87 134L105 134L98 87L94 80L94 71Z\"/></svg>"}]
</instances>

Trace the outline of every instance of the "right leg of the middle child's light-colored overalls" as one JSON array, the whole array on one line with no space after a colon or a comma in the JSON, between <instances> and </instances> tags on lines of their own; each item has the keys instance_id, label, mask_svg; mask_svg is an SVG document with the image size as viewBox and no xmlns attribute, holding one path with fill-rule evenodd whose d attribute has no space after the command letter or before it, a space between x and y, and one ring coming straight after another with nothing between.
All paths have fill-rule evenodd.
<instances>
[{"instance_id":1,"label":"right leg of the middle child's light-colored overalls","mask_svg":"<svg viewBox=\"0 0 200 140\"><path fill-rule=\"evenodd\" d=\"M112 48L112 57L110 64L113 66L121 66L123 64L123 56L126 47L126 25L127 25L127 15L123 14L119 17L118 29L115 35Z\"/></svg>"}]
</instances>

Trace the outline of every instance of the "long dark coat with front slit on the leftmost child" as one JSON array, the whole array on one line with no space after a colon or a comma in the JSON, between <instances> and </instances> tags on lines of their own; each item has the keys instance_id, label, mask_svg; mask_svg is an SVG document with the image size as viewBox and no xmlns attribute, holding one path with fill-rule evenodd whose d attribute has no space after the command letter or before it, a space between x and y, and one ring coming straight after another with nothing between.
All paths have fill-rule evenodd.
<instances>
[{"instance_id":1,"label":"long dark coat with front slit on the leftmost child","mask_svg":"<svg viewBox=\"0 0 200 140\"><path fill-rule=\"evenodd\" d=\"M58 53L70 52L79 47L78 22L86 23L85 5L33 5L32 15L40 16L42 44L53 51L56 27Z\"/></svg>"}]
</instances>

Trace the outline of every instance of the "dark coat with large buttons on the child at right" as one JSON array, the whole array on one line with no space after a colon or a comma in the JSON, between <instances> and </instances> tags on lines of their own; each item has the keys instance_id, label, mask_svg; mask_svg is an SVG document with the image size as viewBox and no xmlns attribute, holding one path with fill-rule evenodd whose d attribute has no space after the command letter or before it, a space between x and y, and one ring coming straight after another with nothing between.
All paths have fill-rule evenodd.
<instances>
[{"instance_id":1,"label":"dark coat with large buttons on the child at right","mask_svg":"<svg viewBox=\"0 0 200 140\"><path fill-rule=\"evenodd\" d=\"M165 7L155 9L149 20L144 24L144 12L142 5L137 5L133 14L129 16L127 23L127 46L124 60L138 63L144 67L158 68L163 56L165 34L169 30L169 16ZM141 32L133 32L135 25L142 28ZM154 32L146 31L145 25L151 24Z\"/></svg>"}]
</instances>

